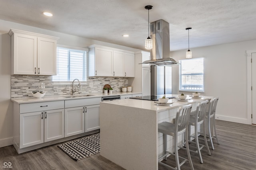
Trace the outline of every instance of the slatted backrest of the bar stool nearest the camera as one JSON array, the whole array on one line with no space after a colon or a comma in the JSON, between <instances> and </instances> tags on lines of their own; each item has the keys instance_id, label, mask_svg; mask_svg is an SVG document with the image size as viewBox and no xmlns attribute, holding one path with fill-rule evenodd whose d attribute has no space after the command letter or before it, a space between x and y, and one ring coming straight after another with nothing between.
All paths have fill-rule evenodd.
<instances>
[{"instance_id":1,"label":"slatted backrest of the bar stool nearest the camera","mask_svg":"<svg viewBox=\"0 0 256 170\"><path fill-rule=\"evenodd\" d=\"M180 109L177 111L176 114L176 122L175 122L175 132L176 134L181 134L186 131L186 128L188 128L188 122L189 122L189 117L191 113L191 108L192 105L186 105L186 106L181 106Z\"/></svg>"}]
</instances>

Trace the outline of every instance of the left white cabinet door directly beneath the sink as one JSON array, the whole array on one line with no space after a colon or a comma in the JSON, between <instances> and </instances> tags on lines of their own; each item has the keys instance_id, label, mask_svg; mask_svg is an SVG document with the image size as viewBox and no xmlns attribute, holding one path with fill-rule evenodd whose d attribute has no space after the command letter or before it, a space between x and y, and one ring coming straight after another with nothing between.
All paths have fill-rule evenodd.
<instances>
[{"instance_id":1,"label":"left white cabinet door directly beneath the sink","mask_svg":"<svg viewBox=\"0 0 256 170\"><path fill-rule=\"evenodd\" d=\"M65 109L65 137L84 133L84 107Z\"/></svg>"}]
</instances>

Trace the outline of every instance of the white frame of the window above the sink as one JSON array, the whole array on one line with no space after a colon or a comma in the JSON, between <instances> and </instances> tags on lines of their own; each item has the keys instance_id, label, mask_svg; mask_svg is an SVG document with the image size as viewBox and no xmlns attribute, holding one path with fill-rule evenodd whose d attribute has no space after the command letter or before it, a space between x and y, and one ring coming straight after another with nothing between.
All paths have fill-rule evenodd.
<instances>
[{"instance_id":1,"label":"white frame of the window above the sink","mask_svg":"<svg viewBox=\"0 0 256 170\"><path fill-rule=\"evenodd\" d=\"M84 74L83 76L86 76L86 80L80 80L80 82L87 82L87 79L88 79L88 51L89 51L89 49L88 48L82 48L82 47L72 47L72 46L68 46L68 45L59 45L59 44L57 44L56 51L58 51L58 47L71 49L71 50L85 51L85 54L86 54L86 56L85 56L86 57L86 68L84 69L84 71L86 72L86 75ZM56 54L56 57L58 57L57 54ZM56 64L58 64L58 58L57 58L57 63ZM67 70L70 72L70 67ZM57 70L57 74L58 74L58 70ZM69 78L70 78L70 76L69 76ZM58 80L53 80L53 78L52 78L52 84L70 84L70 82L72 82L72 81L73 80L58 81Z\"/></svg>"}]
</instances>

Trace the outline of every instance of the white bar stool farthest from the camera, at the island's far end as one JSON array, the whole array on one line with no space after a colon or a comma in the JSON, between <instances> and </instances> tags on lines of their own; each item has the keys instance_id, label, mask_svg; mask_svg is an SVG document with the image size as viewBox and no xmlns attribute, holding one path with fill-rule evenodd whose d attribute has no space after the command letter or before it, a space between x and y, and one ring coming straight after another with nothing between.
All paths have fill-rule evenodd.
<instances>
[{"instance_id":1,"label":"white bar stool farthest from the camera, at the island's far end","mask_svg":"<svg viewBox=\"0 0 256 170\"><path fill-rule=\"evenodd\" d=\"M216 126L215 126L215 111L216 111L216 106L218 103L219 98L213 98L210 101L210 108L209 111L206 113L206 120L207 120L207 124L208 124L208 133L209 133L209 139L212 145L212 150L214 150L214 146L212 143L212 139L215 137L217 140L217 144L220 145L220 142L218 140L218 136L217 136L217 132L216 132ZM212 123L213 123L213 130L214 130L214 134L211 134L211 124L210 124L210 120L212 118Z\"/></svg>"}]
</instances>

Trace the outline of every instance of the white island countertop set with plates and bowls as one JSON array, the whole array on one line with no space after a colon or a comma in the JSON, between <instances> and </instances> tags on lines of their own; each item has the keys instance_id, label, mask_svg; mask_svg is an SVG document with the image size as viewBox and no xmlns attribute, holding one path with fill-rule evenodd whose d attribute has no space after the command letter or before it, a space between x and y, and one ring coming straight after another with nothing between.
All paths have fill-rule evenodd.
<instances>
[{"instance_id":1,"label":"white island countertop set with plates and bowls","mask_svg":"<svg viewBox=\"0 0 256 170\"><path fill-rule=\"evenodd\" d=\"M178 97L178 94L172 94L172 96ZM187 98L190 99L191 97L187 97ZM168 103L173 102L173 104L166 105L166 106L158 106L154 103L156 101L130 99L130 98L123 99L123 100L106 101L104 103L127 106L127 107L135 107L140 109L148 109L148 110L154 110L159 112L159 111L165 111L165 110L173 109L176 107L180 107L182 105L193 104L202 100L209 100L211 98L213 97L204 96L202 98L191 98L191 100L187 100L187 101L178 101L176 99L169 99Z\"/></svg>"}]
</instances>

